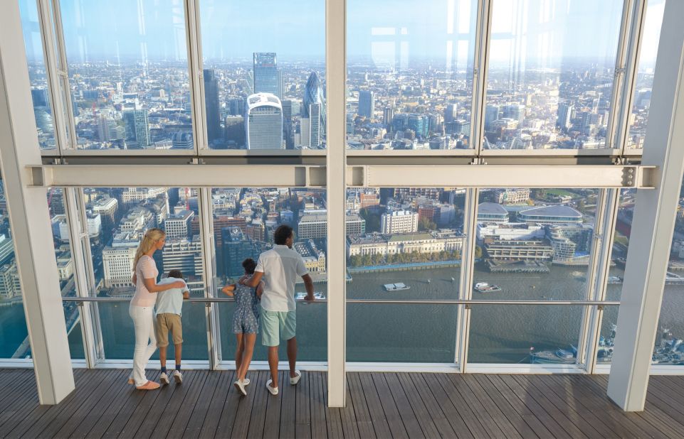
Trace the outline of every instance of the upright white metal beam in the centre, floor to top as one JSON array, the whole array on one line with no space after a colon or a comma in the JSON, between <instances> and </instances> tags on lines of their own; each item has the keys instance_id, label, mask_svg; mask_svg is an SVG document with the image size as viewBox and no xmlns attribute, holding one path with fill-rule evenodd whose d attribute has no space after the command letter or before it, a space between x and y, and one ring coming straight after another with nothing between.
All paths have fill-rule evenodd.
<instances>
[{"instance_id":1,"label":"upright white metal beam in the centre, floor to top","mask_svg":"<svg viewBox=\"0 0 684 439\"><path fill-rule=\"evenodd\" d=\"M325 1L327 85L327 364L328 406L344 407L347 396L347 271L344 232L347 88L347 1Z\"/></svg>"}]
</instances>

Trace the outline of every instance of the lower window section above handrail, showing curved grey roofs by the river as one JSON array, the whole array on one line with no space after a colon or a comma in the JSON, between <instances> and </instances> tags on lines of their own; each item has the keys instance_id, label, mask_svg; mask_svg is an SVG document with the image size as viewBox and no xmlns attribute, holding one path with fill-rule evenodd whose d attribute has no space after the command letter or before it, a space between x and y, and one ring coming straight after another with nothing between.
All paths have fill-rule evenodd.
<instances>
[{"instance_id":1,"label":"lower window section above handrail, showing curved grey roofs by the river","mask_svg":"<svg viewBox=\"0 0 684 439\"><path fill-rule=\"evenodd\" d=\"M473 298L582 300L598 190L480 190Z\"/></svg>"}]
</instances>

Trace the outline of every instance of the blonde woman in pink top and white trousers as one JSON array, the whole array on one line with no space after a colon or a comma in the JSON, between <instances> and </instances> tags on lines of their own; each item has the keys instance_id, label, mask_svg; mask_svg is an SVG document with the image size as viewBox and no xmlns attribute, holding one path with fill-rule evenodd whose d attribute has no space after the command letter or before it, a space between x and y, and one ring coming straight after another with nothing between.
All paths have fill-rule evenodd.
<instances>
[{"instance_id":1,"label":"blonde woman in pink top and white trousers","mask_svg":"<svg viewBox=\"0 0 684 439\"><path fill-rule=\"evenodd\" d=\"M165 242L164 230L147 230L133 260L135 296L131 299L128 313L135 329L135 350L133 351L133 372L128 383L135 384L135 388L139 390L159 388L159 383L149 381L145 376L145 366L149 362L149 357L152 357L154 351L157 350L157 337L154 335L154 303L157 302L157 293L185 286L183 281L157 285L159 271L152 255L155 251L161 250Z\"/></svg>"}]
</instances>

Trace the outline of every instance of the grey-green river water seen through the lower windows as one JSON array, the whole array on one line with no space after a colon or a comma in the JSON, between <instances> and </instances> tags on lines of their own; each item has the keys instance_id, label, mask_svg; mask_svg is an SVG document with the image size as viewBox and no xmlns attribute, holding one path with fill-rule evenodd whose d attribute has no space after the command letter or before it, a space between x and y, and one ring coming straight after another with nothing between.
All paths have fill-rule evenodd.
<instances>
[{"instance_id":1,"label":"grey-green river water seen through the lower windows","mask_svg":"<svg viewBox=\"0 0 684 439\"><path fill-rule=\"evenodd\" d=\"M614 276L624 273L614 267ZM502 291L473 292L473 298L582 300L586 267L553 266L547 274L510 274L475 271L475 282L495 283ZM458 297L459 268L356 273L347 283L348 298L448 299ZM456 281L452 282L451 278ZM384 283L404 282L411 289L389 293ZM301 288L301 287L299 287ZM316 284L325 291L325 283ZM609 300L619 299L621 285L608 286ZM332 291L331 294L335 294ZM205 306L184 305L184 358L207 359ZM665 286L661 326L675 337L684 337L684 286ZM231 359L235 349L231 333L233 305L219 305L221 352ZM608 335L616 322L617 307L606 307L602 333ZM349 362L443 362L454 361L456 352L456 305L364 305L347 306L347 360ZM0 307L0 355L11 357L26 337L23 308ZM327 305L298 304L299 359L325 361L327 354ZM128 304L100 304L100 321L109 359L130 359L133 352L132 323ZM553 305L477 305L470 319L468 361L474 363L529 362L530 347L535 351L577 345L582 307ZM619 330L619 329L618 329ZM80 330L70 336L73 357L83 357ZM258 340L258 345L261 339ZM4 349L4 350L2 350ZM79 350L80 349L80 350ZM281 348L283 358L284 349ZM156 358L156 354L155 357ZM265 359L260 345L255 359Z\"/></svg>"}]
</instances>

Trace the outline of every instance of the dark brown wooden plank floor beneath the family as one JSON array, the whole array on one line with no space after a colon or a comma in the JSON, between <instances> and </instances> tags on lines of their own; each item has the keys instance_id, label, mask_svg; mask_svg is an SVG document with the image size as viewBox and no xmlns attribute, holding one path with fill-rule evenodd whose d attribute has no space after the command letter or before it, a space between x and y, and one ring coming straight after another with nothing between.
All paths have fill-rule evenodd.
<instances>
[{"instance_id":1,"label":"dark brown wooden plank floor beneath the family","mask_svg":"<svg viewBox=\"0 0 684 439\"><path fill-rule=\"evenodd\" d=\"M149 392L128 373L76 370L76 390L40 406L31 369L0 369L0 438L684 438L684 376L653 376L646 411L624 413L606 376L350 373L347 408L327 408L324 372L279 396L251 372L246 397L232 371Z\"/></svg>"}]
</instances>

